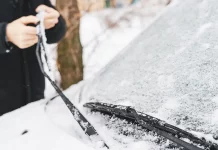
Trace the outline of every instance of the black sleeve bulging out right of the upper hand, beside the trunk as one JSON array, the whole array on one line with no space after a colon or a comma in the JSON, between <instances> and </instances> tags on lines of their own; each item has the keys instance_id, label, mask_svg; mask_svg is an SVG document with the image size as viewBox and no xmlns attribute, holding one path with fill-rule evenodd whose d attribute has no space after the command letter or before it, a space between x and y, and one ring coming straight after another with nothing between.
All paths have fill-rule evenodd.
<instances>
[{"instance_id":1,"label":"black sleeve bulging out right of the upper hand, beside the trunk","mask_svg":"<svg viewBox=\"0 0 218 150\"><path fill-rule=\"evenodd\" d=\"M50 0L45 0L45 5L53 7ZM59 22L51 29L46 30L47 42L48 44L57 43L60 41L66 33L66 23L62 16L59 17Z\"/></svg>"}]
</instances>

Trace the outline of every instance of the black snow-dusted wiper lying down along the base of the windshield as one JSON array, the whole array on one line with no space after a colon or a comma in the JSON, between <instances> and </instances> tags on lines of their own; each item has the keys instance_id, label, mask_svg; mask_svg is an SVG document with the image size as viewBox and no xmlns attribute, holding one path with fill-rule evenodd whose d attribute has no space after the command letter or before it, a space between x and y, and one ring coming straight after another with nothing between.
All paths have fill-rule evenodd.
<instances>
[{"instance_id":1,"label":"black snow-dusted wiper lying down along the base of the windshield","mask_svg":"<svg viewBox=\"0 0 218 150\"><path fill-rule=\"evenodd\" d=\"M208 142L205 139L200 139L193 134L170 125L158 118L137 112L132 107L98 102L86 103L84 107L90 108L92 111L115 115L119 118L136 123L145 129L156 132L158 135L167 138L186 150L218 150L217 144ZM184 139L190 140L191 143L186 142Z\"/></svg>"}]
</instances>

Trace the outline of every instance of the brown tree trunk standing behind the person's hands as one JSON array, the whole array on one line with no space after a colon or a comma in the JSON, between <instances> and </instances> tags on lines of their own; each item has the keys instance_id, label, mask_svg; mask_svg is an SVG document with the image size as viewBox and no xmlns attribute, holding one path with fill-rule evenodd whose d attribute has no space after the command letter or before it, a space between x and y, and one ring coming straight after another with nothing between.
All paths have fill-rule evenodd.
<instances>
[{"instance_id":1,"label":"brown tree trunk standing behind the person's hands","mask_svg":"<svg viewBox=\"0 0 218 150\"><path fill-rule=\"evenodd\" d=\"M82 46L79 36L80 11L77 0L57 0L56 5L67 24L66 36L58 45L57 60L61 87L66 89L83 79Z\"/></svg>"}]
</instances>

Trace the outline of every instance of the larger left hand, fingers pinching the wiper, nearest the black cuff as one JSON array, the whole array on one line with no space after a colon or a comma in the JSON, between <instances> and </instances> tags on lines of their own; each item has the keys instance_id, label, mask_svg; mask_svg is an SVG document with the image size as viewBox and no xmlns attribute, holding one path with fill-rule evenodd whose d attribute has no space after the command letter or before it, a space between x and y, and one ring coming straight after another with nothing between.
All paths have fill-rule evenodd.
<instances>
[{"instance_id":1,"label":"larger left hand, fingers pinching the wiper, nearest the black cuff","mask_svg":"<svg viewBox=\"0 0 218 150\"><path fill-rule=\"evenodd\" d=\"M6 27L6 36L9 42L15 44L20 49L33 46L38 42L36 27L27 26L37 24L39 19L35 16L21 17Z\"/></svg>"}]
</instances>

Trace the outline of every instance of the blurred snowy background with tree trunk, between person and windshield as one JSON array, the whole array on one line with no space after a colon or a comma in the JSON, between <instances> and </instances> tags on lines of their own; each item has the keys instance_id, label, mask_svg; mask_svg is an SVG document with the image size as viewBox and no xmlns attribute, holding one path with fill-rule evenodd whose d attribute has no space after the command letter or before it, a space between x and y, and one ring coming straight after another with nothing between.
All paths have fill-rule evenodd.
<instances>
[{"instance_id":1,"label":"blurred snowy background with tree trunk, between person and windshield","mask_svg":"<svg viewBox=\"0 0 218 150\"><path fill-rule=\"evenodd\" d=\"M67 33L50 45L52 74L62 89L95 76L145 30L172 0L51 0ZM55 94L46 83L46 97Z\"/></svg>"}]
</instances>

